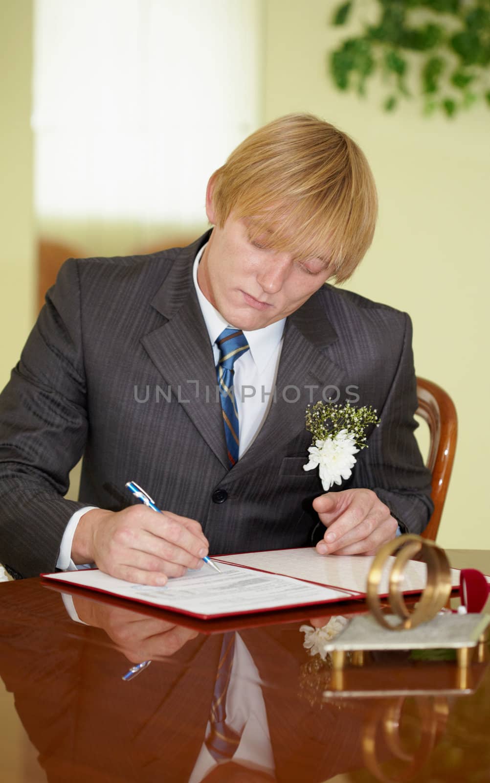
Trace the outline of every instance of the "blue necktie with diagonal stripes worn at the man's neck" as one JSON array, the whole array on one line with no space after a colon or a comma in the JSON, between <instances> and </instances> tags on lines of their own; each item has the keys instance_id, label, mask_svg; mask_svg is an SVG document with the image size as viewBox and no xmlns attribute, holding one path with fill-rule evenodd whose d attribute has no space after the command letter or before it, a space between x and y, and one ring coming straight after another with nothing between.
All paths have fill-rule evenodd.
<instances>
[{"instance_id":1,"label":"blue necktie with diagonal stripes worn at the man's neck","mask_svg":"<svg viewBox=\"0 0 490 783\"><path fill-rule=\"evenodd\" d=\"M249 345L243 332L237 329L224 329L216 345L219 348L218 373L219 396L222 401L223 420L225 422L226 448L230 467L238 460L240 427L238 411L233 389L233 365L239 356L248 351Z\"/></svg>"}]
</instances>

